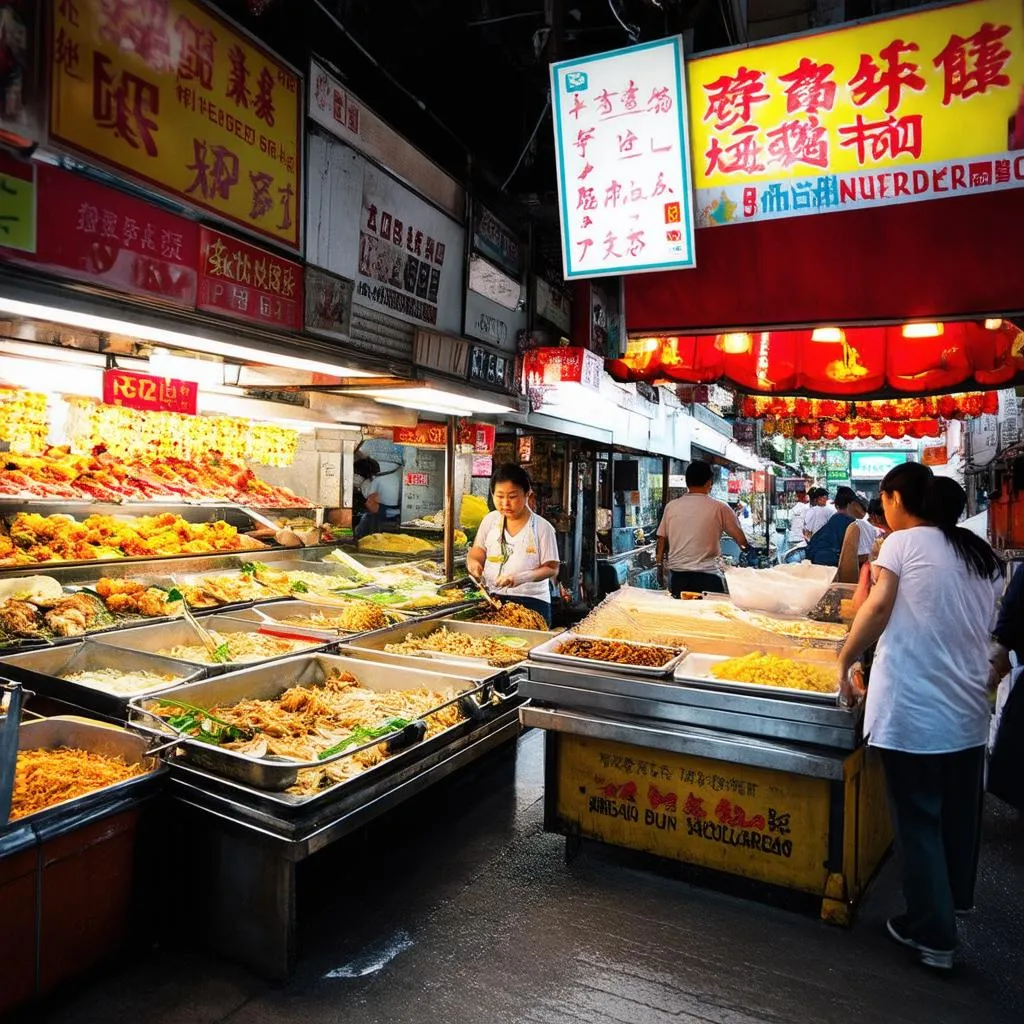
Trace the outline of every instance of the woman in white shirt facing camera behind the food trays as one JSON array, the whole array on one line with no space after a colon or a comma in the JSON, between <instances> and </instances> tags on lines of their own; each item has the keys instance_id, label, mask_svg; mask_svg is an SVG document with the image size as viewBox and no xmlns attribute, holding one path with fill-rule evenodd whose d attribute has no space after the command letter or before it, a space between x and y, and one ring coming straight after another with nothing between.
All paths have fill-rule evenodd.
<instances>
[{"instance_id":1,"label":"woman in white shirt facing camera behind the food trays","mask_svg":"<svg viewBox=\"0 0 1024 1024\"><path fill-rule=\"evenodd\" d=\"M480 522L466 567L496 596L531 608L550 626L558 544L551 523L530 511L531 489L529 476L519 466L499 468L490 481L495 511Z\"/></svg>"}]
</instances>

